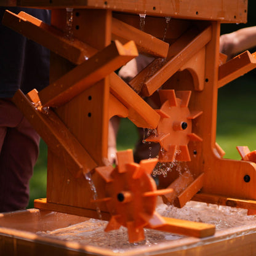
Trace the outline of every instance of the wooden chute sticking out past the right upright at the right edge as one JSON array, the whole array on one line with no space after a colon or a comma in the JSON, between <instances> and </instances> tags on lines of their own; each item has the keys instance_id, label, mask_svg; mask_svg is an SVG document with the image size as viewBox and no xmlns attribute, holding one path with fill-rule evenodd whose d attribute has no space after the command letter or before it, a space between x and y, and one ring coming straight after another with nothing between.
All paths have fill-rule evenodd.
<instances>
[{"instance_id":1,"label":"wooden chute sticking out past the right upright at the right edge","mask_svg":"<svg viewBox=\"0 0 256 256\"><path fill-rule=\"evenodd\" d=\"M256 68L256 52L250 54L248 50L232 58L218 68L218 88L225 86L239 76Z\"/></svg>"}]
</instances>

